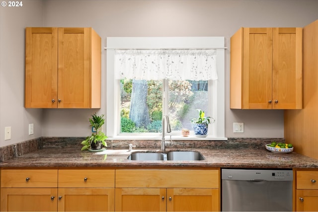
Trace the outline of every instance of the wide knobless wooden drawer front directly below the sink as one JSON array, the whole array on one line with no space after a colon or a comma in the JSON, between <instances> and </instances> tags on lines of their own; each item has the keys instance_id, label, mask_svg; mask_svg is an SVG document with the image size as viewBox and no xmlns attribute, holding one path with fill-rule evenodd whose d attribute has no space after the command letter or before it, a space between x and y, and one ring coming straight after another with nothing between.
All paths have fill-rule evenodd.
<instances>
[{"instance_id":1,"label":"wide knobless wooden drawer front directly below the sink","mask_svg":"<svg viewBox=\"0 0 318 212\"><path fill-rule=\"evenodd\" d=\"M116 170L116 188L219 188L219 170Z\"/></svg>"}]
</instances>

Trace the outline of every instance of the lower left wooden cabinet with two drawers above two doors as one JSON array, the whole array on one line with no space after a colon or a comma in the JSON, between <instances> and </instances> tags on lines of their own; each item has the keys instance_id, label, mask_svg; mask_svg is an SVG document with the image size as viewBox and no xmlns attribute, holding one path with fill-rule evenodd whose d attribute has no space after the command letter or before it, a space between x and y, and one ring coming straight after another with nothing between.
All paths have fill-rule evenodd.
<instances>
[{"instance_id":1,"label":"lower left wooden cabinet with two drawers above two doors","mask_svg":"<svg viewBox=\"0 0 318 212\"><path fill-rule=\"evenodd\" d=\"M115 171L1 170L0 211L114 211Z\"/></svg>"}]
</instances>

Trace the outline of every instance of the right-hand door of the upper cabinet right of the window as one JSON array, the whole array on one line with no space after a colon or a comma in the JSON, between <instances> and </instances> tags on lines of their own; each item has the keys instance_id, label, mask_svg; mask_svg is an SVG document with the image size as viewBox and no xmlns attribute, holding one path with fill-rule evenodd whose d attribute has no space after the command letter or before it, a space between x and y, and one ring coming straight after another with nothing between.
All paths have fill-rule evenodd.
<instances>
[{"instance_id":1,"label":"right-hand door of the upper cabinet right of the window","mask_svg":"<svg viewBox=\"0 0 318 212\"><path fill-rule=\"evenodd\" d=\"M303 107L303 29L273 28L273 109Z\"/></svg>"}]
</instances>

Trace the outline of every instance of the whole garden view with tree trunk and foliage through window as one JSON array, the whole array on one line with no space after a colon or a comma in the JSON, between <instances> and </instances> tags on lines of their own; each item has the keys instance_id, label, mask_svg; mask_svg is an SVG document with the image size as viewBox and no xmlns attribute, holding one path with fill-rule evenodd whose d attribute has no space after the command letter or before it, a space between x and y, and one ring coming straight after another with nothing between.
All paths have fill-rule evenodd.
<instances>
[{"instance_id":1,"label":"whole garden view with tree trunk and foliage through window","mask_svg":"<svg viewBox=\"0 0 318 212\"><path fill-rule=\"evenodd\" d=\"M196 109L208 111L208 81L124 79L120 84L121 133L161 132L163 111L172 130L191 129Z\"/></svg>"}]
</instances>

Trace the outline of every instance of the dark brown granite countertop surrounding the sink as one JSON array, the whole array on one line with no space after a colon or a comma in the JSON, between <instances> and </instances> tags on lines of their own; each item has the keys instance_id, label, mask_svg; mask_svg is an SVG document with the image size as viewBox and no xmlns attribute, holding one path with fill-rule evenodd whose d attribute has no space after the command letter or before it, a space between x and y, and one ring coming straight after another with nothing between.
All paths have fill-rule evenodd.
<instances>
[{"instance_id":1,"label":"dark brown granite countertop surrounding the sink","mask_svg":"<svg viewBox=\"0 0 318 212\"><path fill-rule=\"evenodd\" d=\"M171 150L174 148L167 148ZM265 148L184 148L200 151L203 161L131 161L127 149L81 152L79 148L43 148L0 163L0 168L313 168L318 160L296 152L279 154ZM133 151L156 151L145 148Z\"/></svg>"}]
</instances>

